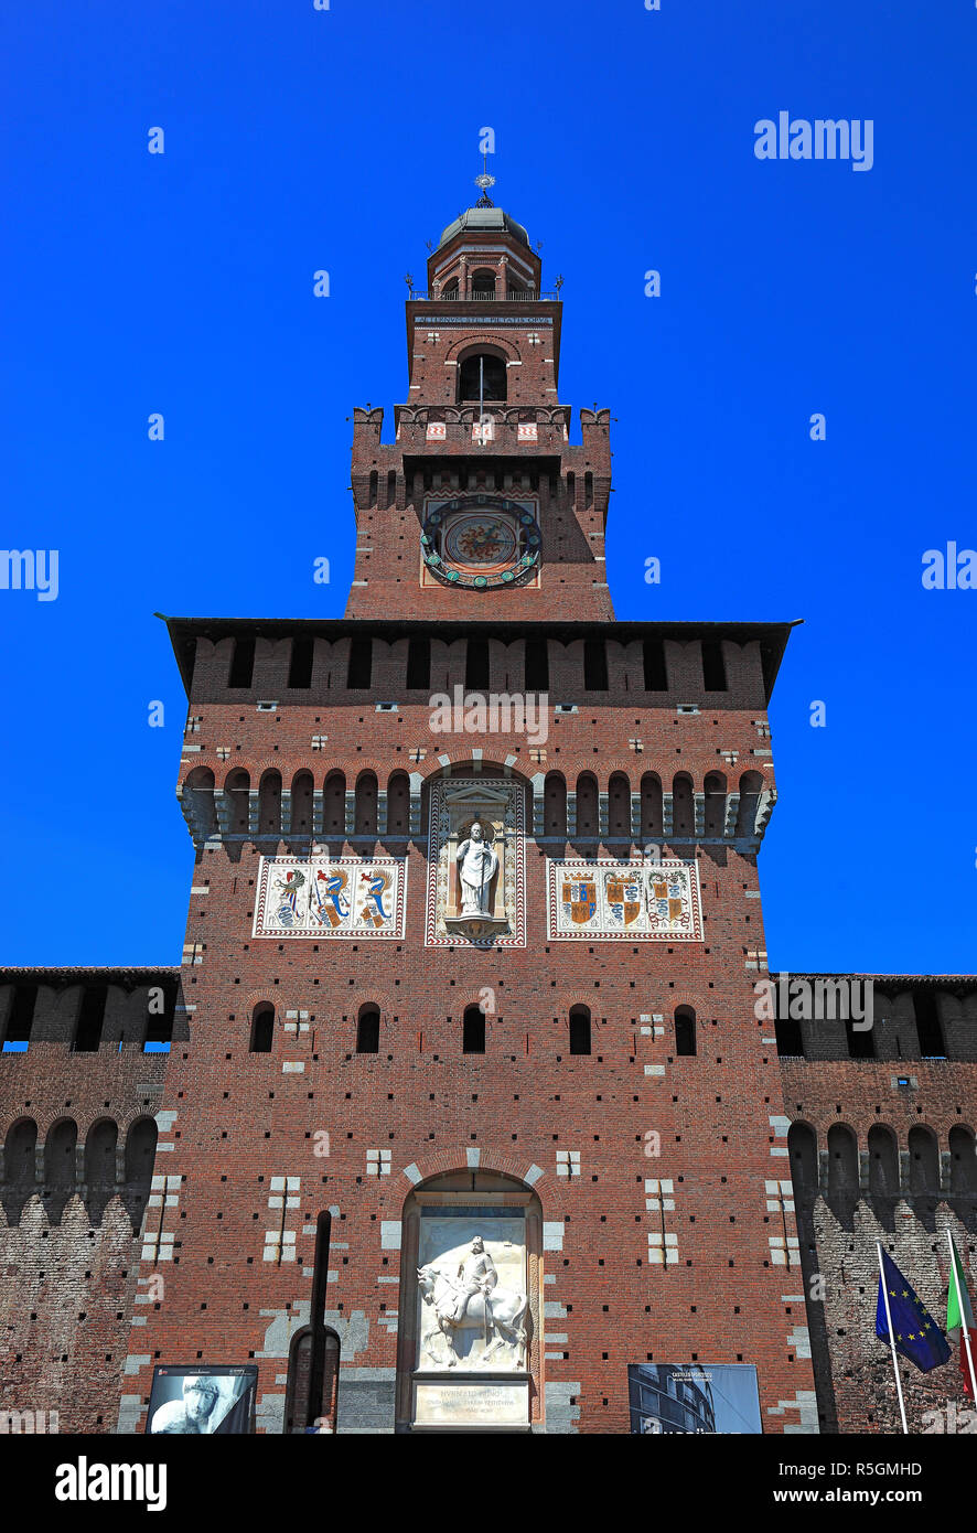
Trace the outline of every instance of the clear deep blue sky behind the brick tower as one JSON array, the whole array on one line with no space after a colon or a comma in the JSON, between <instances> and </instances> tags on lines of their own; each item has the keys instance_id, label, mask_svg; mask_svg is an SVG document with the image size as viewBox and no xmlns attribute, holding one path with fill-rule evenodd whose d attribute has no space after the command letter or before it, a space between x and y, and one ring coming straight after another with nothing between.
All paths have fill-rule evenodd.
<instances>
[{"instance_id":1,"label":"clear deep blue sky behind the brick tower","mask_svg":"<svg viewBox=\"0 0 977 1533\"><path fill-rule=\"evenodd\" d=\"M342 613L347 417L406 394L403 274L491 126L495 201L566 279L561 399L617 417L618 616L805 619L771 964L975 967L977 592L920 572L977 546L977 9L661 6L6 9L2 541L58 549L60 589L0 590L0 963L179 960L186 704L152 613ZM871 118L873 169L756 159L779 110Z\"/></svg>"}]
</instances>

